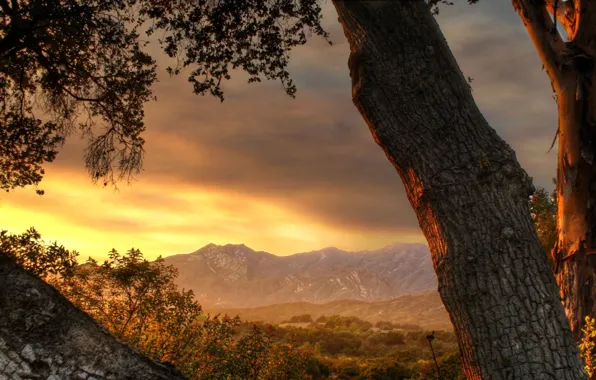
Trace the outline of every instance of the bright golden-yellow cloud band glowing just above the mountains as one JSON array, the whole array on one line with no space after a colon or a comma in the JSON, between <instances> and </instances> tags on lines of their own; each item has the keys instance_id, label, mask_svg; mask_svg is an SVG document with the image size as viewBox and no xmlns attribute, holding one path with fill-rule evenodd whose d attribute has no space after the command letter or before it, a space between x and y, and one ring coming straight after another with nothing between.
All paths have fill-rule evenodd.
<instances>
[{"instance_id":1,"label":"bright golden-yellow cloud band glowing just above the mountains","mask_svg":"<svg viewBox=\"0 0 596 380\"><path fill-rule=\"evenodd\" d=\"M23 189L2 196L2 228L20 233L33 225L46 241L78 250L83 260L105 257L111 248L140 248L155 258L210 242L243 242L253 249L290 254L337 243L350 249L380 247L394 240L346 234L266 200L184 183L140 180L114 191L90 184L82 173L53 170L44 189L43 197Z\"/></svg>"}]
</instances>

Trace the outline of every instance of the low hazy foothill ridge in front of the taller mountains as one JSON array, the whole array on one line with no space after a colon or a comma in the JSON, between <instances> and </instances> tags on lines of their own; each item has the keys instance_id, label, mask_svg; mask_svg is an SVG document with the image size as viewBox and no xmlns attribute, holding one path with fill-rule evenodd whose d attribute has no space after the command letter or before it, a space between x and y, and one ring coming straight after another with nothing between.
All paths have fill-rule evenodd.
<instances>
[{"instance_id":1,"label":"low hazy foothill ridge in front of the taller mountains","mask_svg":"<svg viewBox=\"0 0 596 380\"><path fill-rule=\"evenodd\" d=\"M333 301L323 304L308 302L284 303L256 308L206 308L213 314L240 316L246 321L281 323L295 315L310 314L313 319L321 315L355 316L375 323L391 321L415 324L426 329L453 330L451 321L438 292L401 296L380 302Z\"/></svg>"}]
</instances>

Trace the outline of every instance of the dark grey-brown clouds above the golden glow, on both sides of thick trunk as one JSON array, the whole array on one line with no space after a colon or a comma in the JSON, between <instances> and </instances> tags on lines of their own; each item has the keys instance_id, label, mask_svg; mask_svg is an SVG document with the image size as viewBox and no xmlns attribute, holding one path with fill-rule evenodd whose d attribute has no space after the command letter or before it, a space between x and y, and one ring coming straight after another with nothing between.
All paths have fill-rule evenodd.
<instances>
[{"instance_id":1,"label":"dark grey-brown clouds above the golden glow, on both sides of thick trunk","mask_svg":"<svg viewBox=\"0 0 596 380\"><path fill-rule=\"evenodd\" d=\"M397 173L352 104L349 48L327 8L335 45L316 40L292 53L295 100L278 83L247 85L234 73L220 104L192 95L184 77L164 76L156 86L158 102L147 107L148 156L141 175L270 199L341 228L417 229ZM511 5L460 5L442 10L439 22L462 71L474 78L487 120L530 175L548 184L555 156L545 152L556 109ZM80 168L80 145L71 143L59 164ZM136 200L162 201L168 202Z\"/></svg>"}]
</instances>

